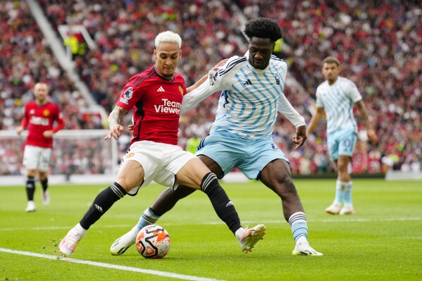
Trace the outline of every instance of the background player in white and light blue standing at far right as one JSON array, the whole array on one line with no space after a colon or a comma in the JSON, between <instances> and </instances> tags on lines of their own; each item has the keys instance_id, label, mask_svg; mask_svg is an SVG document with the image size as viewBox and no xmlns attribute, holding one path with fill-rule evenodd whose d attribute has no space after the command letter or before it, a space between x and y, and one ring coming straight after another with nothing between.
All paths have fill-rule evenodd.
<instances>
[{"instance_id":1,"label":"background player in white and light blue standing at far right","mask_svg":"<svg viewBox=\"0 0 422 281\"><path fill-rule=\"evenodd\" d=\"M337 184L333 204L325 209L327 213L350 215L354 213L352 204L352 178L349 161L356 145L358 127L353 115L353 107L359 110L364 120L366 133L373 144L378 142L376 133L369 122L362 96L354 82L339 76L340 61L328 56L323 60L322 72L325 82L316 89L316 113L309 123L307 135L314 131L325 115L327 118L327 142L330 159L337 168Z\"/></svg>"}]
</instances>

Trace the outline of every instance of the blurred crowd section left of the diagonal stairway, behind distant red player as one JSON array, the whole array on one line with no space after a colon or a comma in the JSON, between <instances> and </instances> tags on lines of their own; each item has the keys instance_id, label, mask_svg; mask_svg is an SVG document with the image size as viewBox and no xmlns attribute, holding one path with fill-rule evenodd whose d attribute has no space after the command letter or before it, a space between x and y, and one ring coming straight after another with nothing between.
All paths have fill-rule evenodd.
<instances>
[{"instance_id":1,"label":"blurred crowd section left of the diagonal stairway, behind distant red player","mask_svg":"<svg viewBox=\"0 0 422 281\"><path fill-rule=\"evenodd\" d=\"M50 85L50 96L66 112L66 129L87 127L87 104L58 64L23 1L0 1L0 129L15 130L36 82Z\"/></svg>"}]
</instances>

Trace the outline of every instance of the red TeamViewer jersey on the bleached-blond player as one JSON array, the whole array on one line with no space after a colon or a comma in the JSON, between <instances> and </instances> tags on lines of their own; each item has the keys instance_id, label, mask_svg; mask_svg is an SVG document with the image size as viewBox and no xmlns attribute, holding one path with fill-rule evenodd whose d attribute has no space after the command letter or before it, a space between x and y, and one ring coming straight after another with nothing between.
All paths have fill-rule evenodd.
<instances>
[{"instance_id":1,"label":"red TeamViewer jersey on the bleached-blond player","mask_svg":"<svg viewBox=\"0 0 422 281\"><path fill-rule=\"evenodd\" d=\"M130 78L117 105L133 107L133 139L178 144L180 106L187 94L185 79L175 73L172 80L159 74L155 65Z\"/></svg>"}]
</instances>

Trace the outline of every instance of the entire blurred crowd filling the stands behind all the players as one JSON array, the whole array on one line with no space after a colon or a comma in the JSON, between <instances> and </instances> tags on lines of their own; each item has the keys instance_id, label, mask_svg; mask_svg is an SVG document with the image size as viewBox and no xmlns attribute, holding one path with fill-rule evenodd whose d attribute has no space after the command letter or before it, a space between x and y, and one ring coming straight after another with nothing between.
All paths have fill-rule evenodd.
<instances>
[{"instance_id":1,"label":"entire blurred crowd filling the stands behind all the players","mask_svg":"<svg viewBox=\"0 0 422 281\"><path fill-rule=\"evenodd\" d=\"M285 40L277 55L287 61L291 77L302 85L287 83L285 94L306 122L314 109L316 87L323 82L321 61L328 55L340 59L342 75L353 80L364 96L380 139L373 147L364 132L359 134L352 161L354 173L421 171L422 10L416 2L310 0L300 4L271 1L268 5L267 1L235 1L247 19L264 16L280 23ZM247 50L240 20L226 1L175 0L158 5L147 0L101 0L95 4L39 0L39 4L55 29L83 25L94 40L97 48L90 49L83 36L69 29L68 36L75 36L81 47L73 54L77 73L107 113L129 77L154 63L151 50L160 31L174 30L182 36L178 72L188 86L222 58ZM18 126L22 106L32 99L37 81L51 85L51 97L61 106L67 129L100 128L101 122L83 114L87 104L58 65L24 2L0 2L0 15L4 30L0 36L1 130ZM217 99L215 94L182 115L180 146L192 135L206 135ZM323 126L299 151L292 149L293 134L294 127L280 117L274 137L290 159L293 173L333 170ZM122 151L124 142L120 142ZM0 149L0 158L6 158L5 151ZM83 158L74 161L83 162ZM17 158L15 166L19 165Z\"/></svg>"}]
</instances>

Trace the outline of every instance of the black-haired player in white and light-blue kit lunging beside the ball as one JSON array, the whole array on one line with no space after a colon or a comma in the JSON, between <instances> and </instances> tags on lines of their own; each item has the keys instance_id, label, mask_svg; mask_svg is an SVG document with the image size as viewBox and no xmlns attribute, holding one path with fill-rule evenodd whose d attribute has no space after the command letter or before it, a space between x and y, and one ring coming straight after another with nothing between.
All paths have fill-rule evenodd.
<instances>
[{"instance_id":1,"label":"black-haired player in white and light-blue kit lunging beside the ball","mask_svg":"<svg viewBox=\"0 0 422 281\"><path fill-rule=\"evenodd\" d=\"M304 118L283 94L287 64L272 56L275 42L282 37L278 23L268 18L249 20L244 32L249 37L245 56L234 56L218 71L209 72L209 81L194 85L182 104L182 111L223 90L218 101L216 120L209 135L202 139L197 156L219 178L238 168L249 179L261 180L275 192L283 204L285 220L290 223L296 246L292 254L322 256L309 246L308 227L302 203L294 187L289 162L273 141L273 127L278 112L296 127L296 148L306 140ZM194 89L196 87L196 89ZM170 211L179 199L192 191L179 187L164 190L144 211L135 227L111 245L111 254L123 254L135 244L137 232L154 224Z\"/></svg>"}]
</instances>

